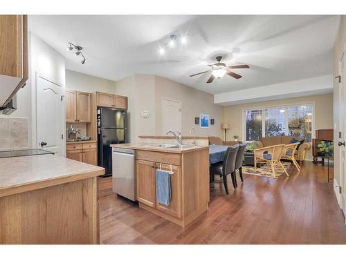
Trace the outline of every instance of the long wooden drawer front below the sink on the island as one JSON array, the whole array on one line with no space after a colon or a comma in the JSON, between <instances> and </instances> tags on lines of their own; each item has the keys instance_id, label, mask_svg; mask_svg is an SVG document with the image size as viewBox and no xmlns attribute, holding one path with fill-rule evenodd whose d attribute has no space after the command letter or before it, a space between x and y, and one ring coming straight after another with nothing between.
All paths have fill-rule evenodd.
<instances>
[{"instance_id":1,"label":"long wooden drawer front below the sink on the island","mask_svg":"<svg viewBox=\"0 0 346 259\"><path fill-rule=\"evenodd\" d=\"M174 164L176 166L181 165L181 154L138 150L136 155L138 160Z\"/></svg>"}]
</instances>

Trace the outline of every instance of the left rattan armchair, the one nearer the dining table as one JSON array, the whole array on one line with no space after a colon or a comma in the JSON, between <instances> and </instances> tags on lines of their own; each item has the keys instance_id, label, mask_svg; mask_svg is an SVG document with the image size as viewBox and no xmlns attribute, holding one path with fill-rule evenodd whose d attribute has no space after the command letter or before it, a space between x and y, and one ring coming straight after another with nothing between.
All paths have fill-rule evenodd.
<instances>
[{"instance_id":1,"label":"left rattan armchair, the one nearer the dining table","mask_svg":"<svg viewBox=\"0 0 346 259\"><path fill-rule=\"evenodd\" d=\"M257 163L264 162L268 165L268 171L271 171L271 173L273 174L273 178L276 178L275 166L281 166L284 170L284 173L286 173L286 175L289 176L289 173L287 173L286 169L284 168L284 165L280 161L283 149L284 144L266 146L264 148L255 149L253 151L255 160L255 171L257 170Z\"/></svg>"}]
</instances>

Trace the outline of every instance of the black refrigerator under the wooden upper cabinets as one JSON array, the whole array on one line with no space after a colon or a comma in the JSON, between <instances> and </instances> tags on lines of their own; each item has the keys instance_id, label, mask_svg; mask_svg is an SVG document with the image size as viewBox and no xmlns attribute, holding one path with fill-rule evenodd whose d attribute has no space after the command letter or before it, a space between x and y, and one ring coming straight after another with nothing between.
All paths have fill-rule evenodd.
<instances>
[{"instance_id":1,"label":"black refrigerator under the wooden upper cabinets","mask_svg":"<svg viewBox=\"0 0 346 259\"><path fill-rule=\"evenodd\" d=\"M104 167L110 176L110 144L127 143L127 113L116 108L98 108L98 166Z\"/></svg>"}]
</instances>

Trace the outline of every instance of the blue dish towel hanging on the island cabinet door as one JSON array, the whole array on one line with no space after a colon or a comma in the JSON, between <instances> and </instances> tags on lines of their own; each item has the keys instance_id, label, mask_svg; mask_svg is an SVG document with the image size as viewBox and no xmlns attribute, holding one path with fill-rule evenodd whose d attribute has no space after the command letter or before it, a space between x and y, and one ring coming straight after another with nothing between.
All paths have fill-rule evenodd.
<instances>
[{"instance_id":1,"label":"blue dish towel hanging on the island cabinet door","mask_svg":"<svg viewBox=\"0 0 346 259\"><path fill-rule=\"evenodd\" d=\"M168 171L157 169L155 172L156 180L156 200L166 206L170 205L171 200L171 175Z\"/></svg>"}]
</instances>

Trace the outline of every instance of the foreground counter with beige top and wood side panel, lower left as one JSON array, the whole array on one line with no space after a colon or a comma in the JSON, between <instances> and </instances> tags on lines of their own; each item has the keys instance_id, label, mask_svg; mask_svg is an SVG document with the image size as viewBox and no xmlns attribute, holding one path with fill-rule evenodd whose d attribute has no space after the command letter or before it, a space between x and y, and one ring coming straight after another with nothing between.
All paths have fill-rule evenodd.
<instances>
[{"instance_id":1,"label":"foreground counter with beige top and wood side panel, lower left","mask_svg":"<svg viewBox=\"0 0 346 259\"><path fill-rule=\"evenodd\" d=\"M98 175L58 155L0 159L0 244L98 244Z\"/></svg>"}]
</instances>

